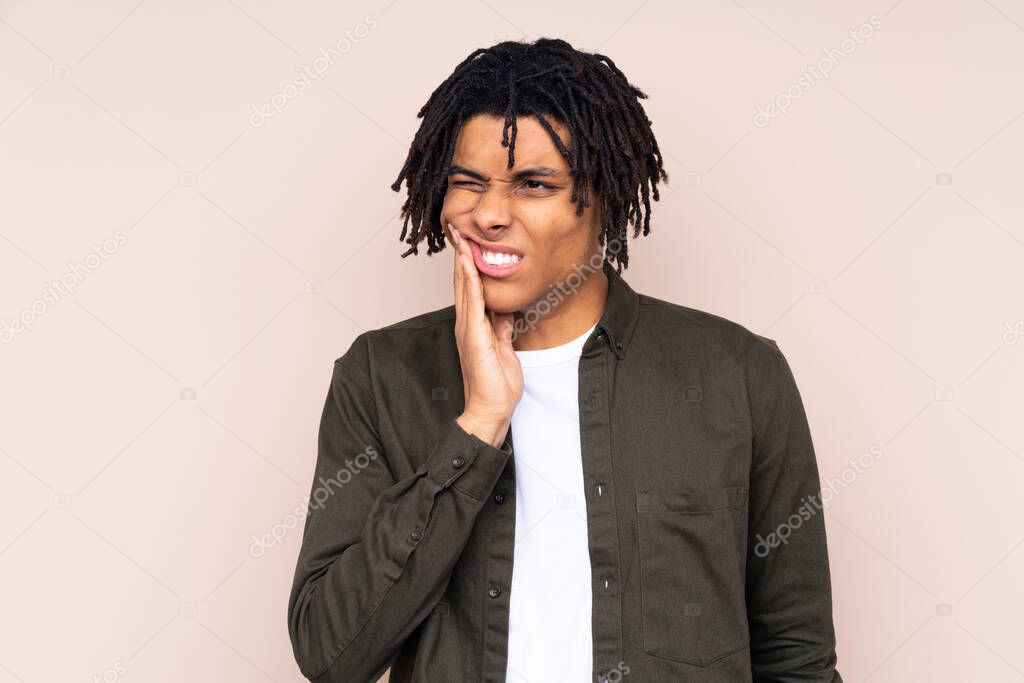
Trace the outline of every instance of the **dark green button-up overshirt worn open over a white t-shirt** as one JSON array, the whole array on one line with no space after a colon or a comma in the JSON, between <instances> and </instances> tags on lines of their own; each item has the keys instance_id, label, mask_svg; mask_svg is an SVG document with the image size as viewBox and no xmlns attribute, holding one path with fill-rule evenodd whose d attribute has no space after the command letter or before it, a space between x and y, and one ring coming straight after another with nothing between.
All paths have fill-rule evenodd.
<instances>
[{"instance_id":1,"label":"dark green button-up overshirt worn open over a white t-shirt","mask_svg":"<svg viewBox=\"0 0 1024 683\"><path fill-rule=\"evenodd\" d=\"M580 359L593 680L842 683L818 469L782 352L604 270ZM512 431L496 449L455 421L454 324L447 306L365 332L334 364L288 604L310 680L505 680Z\"/></svg>"}]
</instances>

